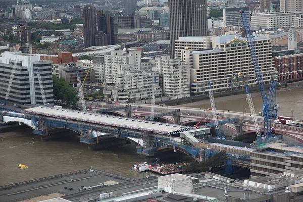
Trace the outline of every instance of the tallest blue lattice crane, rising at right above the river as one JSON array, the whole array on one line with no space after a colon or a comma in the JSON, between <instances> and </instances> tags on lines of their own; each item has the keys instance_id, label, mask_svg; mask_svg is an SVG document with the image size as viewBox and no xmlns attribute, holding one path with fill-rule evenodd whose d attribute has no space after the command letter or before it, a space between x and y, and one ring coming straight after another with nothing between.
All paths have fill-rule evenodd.
<instances>
[{"instance_id":1,"label":"tallest blue lattice crane, rising at right above the river","mask_svg":"<svg viewBox=\"0 0 303 202\"><path fill-rule=\"evenodd\" d=\"M263 100L263 115L264 115L264 135L265 138L271 138L271 119L275 119L277 117L279 105L276 105L274 102L274 94L276 89L276 81L271 80L270 90L268 92L268 96L266 95L264 82L262 79L262 74L260 72L259 63L257 60L257 54L255 51L254 43L252 41L252 37L250 34L249 23L247 21L246 14L244 11L240 11L242 22L244 25L244 30L246 33L247 45L250 51L251 61L254 64L254 69L256 73L257 83L259 85L259 90L261 92L262 100Z\"/></svg>"}]
</instances>

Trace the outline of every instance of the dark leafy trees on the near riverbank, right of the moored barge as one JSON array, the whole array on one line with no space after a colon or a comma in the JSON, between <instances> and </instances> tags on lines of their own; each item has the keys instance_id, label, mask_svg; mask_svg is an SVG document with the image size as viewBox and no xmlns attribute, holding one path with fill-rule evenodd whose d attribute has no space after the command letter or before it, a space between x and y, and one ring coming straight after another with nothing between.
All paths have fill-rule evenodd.
<instances>
[{"instance_id":1,"label":"dark leafy trees on the near riverbank, right of the moored barge","mask_svg":"<svg viewBox=\"0 0 303 202\"><path fill-rule=\"evenodd\" d=\"M192 162L184 167L183 173L200 173L200 172L213 172L224 173L226 162L228 158L225 151L219 151L212 158L204 162Z\"/></svg>"}]
</instances>

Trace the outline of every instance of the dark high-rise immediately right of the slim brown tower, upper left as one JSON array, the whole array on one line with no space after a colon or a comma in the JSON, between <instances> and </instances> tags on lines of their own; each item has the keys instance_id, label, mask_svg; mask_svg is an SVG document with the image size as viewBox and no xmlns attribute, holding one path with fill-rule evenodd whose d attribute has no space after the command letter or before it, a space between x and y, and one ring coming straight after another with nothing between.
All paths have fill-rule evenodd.
<instances>
[{"instance_id":1,"label":"dark high-rise immediately right of the slim brown tower, upper left","mask_svg":"<svg viewBox=\"0 0 303 202\"><path fill-rule=\"evenodd\" d=\"M103 11L98 11L97 29L98 32L104 32L106 34L107 45L114 45L118 43L118 20L116 16L110 16L109 14L104 14ZM98 36L99 35L103 34L98 34Z\"/></svg>"}]
</instances>

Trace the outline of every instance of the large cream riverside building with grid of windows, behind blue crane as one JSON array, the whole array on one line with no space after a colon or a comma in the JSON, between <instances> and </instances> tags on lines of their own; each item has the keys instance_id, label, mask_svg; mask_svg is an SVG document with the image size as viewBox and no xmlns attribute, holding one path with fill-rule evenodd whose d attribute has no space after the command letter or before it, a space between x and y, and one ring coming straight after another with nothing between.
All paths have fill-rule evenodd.
<instances>
[{"instance_id":1,"label":"large cream riverside building with grid of windows, behind blue crane","mask_svg":"<svg viewBox=\"0 0 303 202\"><path fill-rule=\"evenodd\" d=\"M204 37L206 50L191 51L182 49L182 61L190 66L191 82L199 84L199 88L191 88L194 95L203 94L211 81L214 91L227 90L231 87L256 85L254 66L251 63L250 52L246 39L237 35ZM272 45L270 38L255 37L255 49L259 61L260 71L265 83L272 76L277 76L272 58ZM236 48L235 48L236 47ZM258 53L262 53L258 55ZM241 73L241 78L235 74ZM239 82L241 81L241 82Z\"/></svg>"}]
</instances>

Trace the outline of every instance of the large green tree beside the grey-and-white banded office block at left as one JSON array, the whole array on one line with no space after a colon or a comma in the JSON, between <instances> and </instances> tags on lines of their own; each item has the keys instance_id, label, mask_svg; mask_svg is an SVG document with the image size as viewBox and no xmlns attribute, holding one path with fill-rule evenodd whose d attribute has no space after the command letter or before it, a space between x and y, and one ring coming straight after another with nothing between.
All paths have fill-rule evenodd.
<instances>
[{"instance_id":1,"label":"large green tree beside the grey-and-white banded office block at left","mask_svg":"<svg viewBox=\"0 0 303 202\"><path fill-rule=\"evenodd\" d=\"M65 80L65 78L58 78L53 74L53 88L54 99L61 100L66 103L67 107L74 108L79 101L78 93Z\"/></svg>"}]
</instances>

